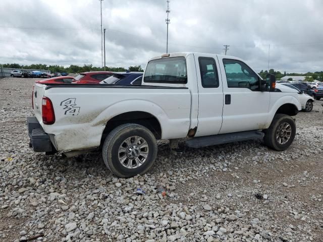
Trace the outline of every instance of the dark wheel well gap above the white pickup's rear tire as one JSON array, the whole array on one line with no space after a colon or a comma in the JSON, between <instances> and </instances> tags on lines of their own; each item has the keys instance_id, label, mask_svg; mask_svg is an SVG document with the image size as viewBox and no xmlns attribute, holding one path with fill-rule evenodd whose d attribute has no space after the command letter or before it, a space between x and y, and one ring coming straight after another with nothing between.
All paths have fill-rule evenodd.
<instances>
[{"instance_id":1,"label":"dark wheel well gap above the white pickup's rear tire","mask_svg":"<svg viewBox=\"0 0 323 242\"><path fill-rule=\"evenodd\" d=\"M161 139L161 127L157 118L148 112L132 111L119 114L111 118L105 125L102 133L101 144L109 133L123 124L138 124L146 127L155 136L156 140Z\"/></svg>"}]
</instances>

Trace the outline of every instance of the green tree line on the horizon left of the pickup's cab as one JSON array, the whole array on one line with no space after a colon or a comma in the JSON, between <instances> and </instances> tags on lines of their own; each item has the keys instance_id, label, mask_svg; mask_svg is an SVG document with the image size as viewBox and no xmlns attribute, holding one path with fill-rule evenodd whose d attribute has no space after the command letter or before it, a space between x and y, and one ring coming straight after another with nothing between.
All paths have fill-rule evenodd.
<instances>
[{"instance_id":1,"label":"green tree line on the horizon left of the pickup's cab","mask_svg":"<svg viewBox=\"0 0 323 242\"><path fill-rule=\"evenodd\" d=\"M31 70L49 70L52 73L55 72L67 72L67 73L81 73L81 72L90 72L90 71L104 71L104 68L101 67L94 67L92 64L90 65L70 65L69 67L64 66L47 66L46 64L32 64L32 65L19 65L17 63L14 64L0 64L0 67L3 68L12 68L12 69L31 69ZM131 66L128 68L130 72L143 72L141 66ZM127 69L123 67L105 67L105 71L112 71L112 72L125 72Z\"/></svg>"}]
</instances>

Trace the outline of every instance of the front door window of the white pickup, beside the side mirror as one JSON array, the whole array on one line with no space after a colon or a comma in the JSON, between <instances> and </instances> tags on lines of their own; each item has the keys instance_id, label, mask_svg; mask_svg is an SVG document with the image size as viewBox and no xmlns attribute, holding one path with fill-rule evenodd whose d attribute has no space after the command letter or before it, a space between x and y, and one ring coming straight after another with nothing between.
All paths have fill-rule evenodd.
<instances>
[{"instance_id":1,"label":"front door window of the white pickup, beside the side mirror","mask_svg":"<svg viewBox=\"0 0 323 242\"><path fill-rule=\"evenodd\" d=\"M259 77L246 64L236 59L223 59L229 88L259 90Z\"/></svg>"}]
</instances>

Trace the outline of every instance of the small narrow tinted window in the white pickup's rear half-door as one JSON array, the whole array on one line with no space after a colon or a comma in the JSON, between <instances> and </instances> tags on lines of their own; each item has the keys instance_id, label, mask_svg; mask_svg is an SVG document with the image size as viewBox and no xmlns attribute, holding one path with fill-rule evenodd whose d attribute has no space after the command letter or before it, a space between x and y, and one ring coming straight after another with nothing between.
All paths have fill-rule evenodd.
<instances>
[{"instance_id":1,"label":"small narrow tinted window in the white pickup's rear half-door","mask_svg":"<svg viewBox=\"0 0 323 242\"><path fill-rule=\"evenodd\" d=\"M202 87L219 87L217 65L211 57L198 57Z\"/></svg>"}]
</instances>

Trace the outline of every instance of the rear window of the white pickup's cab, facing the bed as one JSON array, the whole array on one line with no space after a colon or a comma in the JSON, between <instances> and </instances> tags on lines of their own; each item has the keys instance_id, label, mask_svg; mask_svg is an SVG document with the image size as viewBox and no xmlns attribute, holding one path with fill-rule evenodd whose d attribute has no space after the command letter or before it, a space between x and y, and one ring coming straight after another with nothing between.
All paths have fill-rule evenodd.
<instances>
[{"instance_id":1,"label":"rear window of the white pickup's cab, facing the bed","mask_svg":"<svg viewBox=\"0 0 323 242\"><path fill-rule=\"evenodd\" d=\"M170 57L150 61L143 81L151 83L187 83L185 57Z\"/></svg>"}]
</instances>

